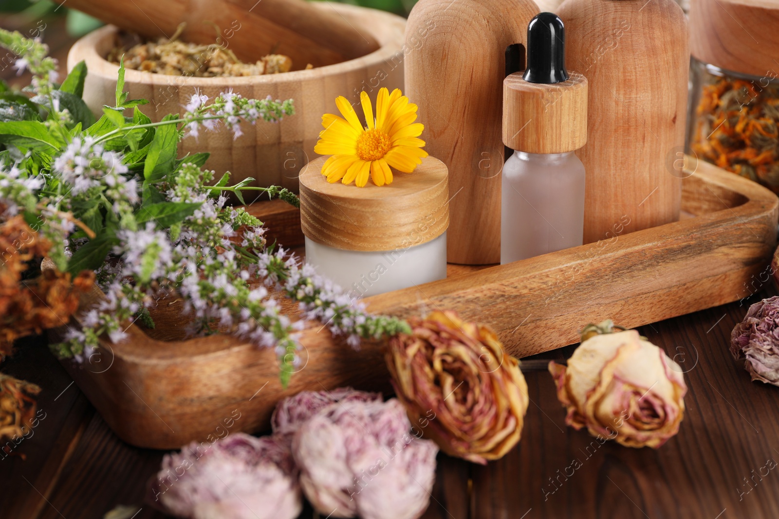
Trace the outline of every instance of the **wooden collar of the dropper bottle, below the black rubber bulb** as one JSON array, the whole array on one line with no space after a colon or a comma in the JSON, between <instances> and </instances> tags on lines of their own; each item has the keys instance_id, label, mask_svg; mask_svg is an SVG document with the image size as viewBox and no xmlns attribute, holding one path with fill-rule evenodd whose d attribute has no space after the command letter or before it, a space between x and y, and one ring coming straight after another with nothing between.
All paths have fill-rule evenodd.
<instances>
[{"instance_id":1,"label":"wooden collar of the dropper bottle, below the black rubber bulb","mask_svg":"<svg viewBox=\"0 0 779 519\"><path fill-rule=\"evenodd\" d=\"M587 144L587 79L569 72L559 83L503 80L503 143L525 153L566 153Z\"/></svg>"}]
</instances>

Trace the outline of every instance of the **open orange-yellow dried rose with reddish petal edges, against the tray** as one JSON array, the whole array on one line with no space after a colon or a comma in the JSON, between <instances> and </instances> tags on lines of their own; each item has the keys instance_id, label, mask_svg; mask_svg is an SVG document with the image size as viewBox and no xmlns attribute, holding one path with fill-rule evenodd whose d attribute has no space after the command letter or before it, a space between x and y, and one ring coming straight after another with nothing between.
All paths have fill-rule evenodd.
<instances>
[{"instance_id":1,"label":"open orange-yellow dried rose with reddish petal edges, against the tray","mask_svg":"<svg viewBox=\"0 0 779 519\"><path fill-rule=\"evenodd\" d=\"M527 384L490 328L454 312L412 318L390 340L387 366L411 423L452 456L485 464L520 440Z\"/></svg>"}]
</instances>

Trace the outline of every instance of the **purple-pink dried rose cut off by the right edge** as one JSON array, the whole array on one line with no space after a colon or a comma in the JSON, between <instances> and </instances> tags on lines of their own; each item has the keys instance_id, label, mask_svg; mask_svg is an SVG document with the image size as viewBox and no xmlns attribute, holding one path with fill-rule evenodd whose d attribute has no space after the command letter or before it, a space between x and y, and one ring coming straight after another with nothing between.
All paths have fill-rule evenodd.
<instances>
[{"instance_id":1,"label":"purple-pink dried rose cut off by the right edge","mask_svg":"<svg viewBox=\"0 0 779 519\"><path fill-rule=\"evenodd\" d=\"M744 367L752 380L779 386L779 296L749 307L731 333L731 353L746 359Z\"/></svg>"}]
</instances>

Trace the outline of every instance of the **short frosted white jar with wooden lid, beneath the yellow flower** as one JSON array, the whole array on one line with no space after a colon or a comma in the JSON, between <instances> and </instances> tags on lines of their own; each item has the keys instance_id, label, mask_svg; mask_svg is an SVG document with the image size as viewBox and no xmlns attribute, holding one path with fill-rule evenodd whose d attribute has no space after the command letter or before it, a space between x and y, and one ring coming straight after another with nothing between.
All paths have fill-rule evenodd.
<instances>
[{"instance_id":1,"label":"short frosted white jar with wooden lid, beneath the yellow flower","mask_svg":"<svg viewBox=\"0 0 779 519\"><path fill-rule=\"evenodd\" d=\"M300 175L305 261L352 296L373 296L446 278L449 181L426 157L412 174L364 188L330 184L325 158Z\"/></svg>"}]
</instances>

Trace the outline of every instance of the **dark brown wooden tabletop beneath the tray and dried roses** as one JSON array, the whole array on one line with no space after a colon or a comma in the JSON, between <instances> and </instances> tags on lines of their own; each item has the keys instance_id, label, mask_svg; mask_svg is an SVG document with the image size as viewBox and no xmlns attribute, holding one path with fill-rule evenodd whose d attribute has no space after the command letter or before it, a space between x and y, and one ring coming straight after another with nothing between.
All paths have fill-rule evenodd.
<instances>
[{"instance_id":1,"label":"dark brown wooden tabletop beneath the tray and dried roses","mask_svg":"<svg viewBox=\"0 0 779 519\"><path fill-rule=\"evenodd\" d=\"M659 451L598 446L566 427L545 365L573 346L525 359L531 404L519 447L485 467L439 455L423 517L779 517L779 471L757 475L779 460L779 388L751 382L728 352L731 329L768 295L640 328L686 370L689 385L681 431ZM136 519L165 517L143 503L164 452L111 433L41 339L21 344L3 371L44 388L46 417L16 447L26 461L0 460L2 519L93 519L118 504L142 507ZM582 466L566 480L576 459ZM306 507L301 517L317 516Z\"/></svg>"}]
</instances>

